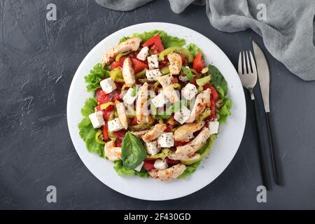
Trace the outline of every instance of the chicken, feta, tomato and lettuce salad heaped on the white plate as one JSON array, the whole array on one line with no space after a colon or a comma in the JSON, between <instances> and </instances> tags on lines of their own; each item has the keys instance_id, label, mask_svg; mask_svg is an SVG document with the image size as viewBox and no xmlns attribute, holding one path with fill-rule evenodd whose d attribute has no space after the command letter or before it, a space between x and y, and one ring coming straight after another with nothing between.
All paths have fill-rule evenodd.
<instances>
[{"instance_id":1,"label":"chicken, feta, tomato and lettuce salad heaped on the white plate","mask_svg":"<svg viewBox=\"0 0 315 224\"><path fill-rule=\"evenodd\" d=\"M124 36L85 83L94 97L81 110L80 137L118 175L186 179L232 106L225 78L206 66L202 50L161 30Z\"/></svg>"}]
</instances>

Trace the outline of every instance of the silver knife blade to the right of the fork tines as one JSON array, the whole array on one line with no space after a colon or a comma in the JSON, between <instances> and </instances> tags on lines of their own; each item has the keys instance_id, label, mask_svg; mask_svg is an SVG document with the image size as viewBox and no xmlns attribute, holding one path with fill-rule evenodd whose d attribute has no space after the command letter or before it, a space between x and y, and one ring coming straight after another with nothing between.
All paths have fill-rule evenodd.
<instances>
[{"instance_id":1,"label":"silver knife blade to the right of the fork tines","mask_svg":"<svg viewBox=\"0 0 315 224\"><path fill-rule=\"evenodd\" d=\"M270 83L270 74L269 66L266 60L264 53L257 43L253 41L253 52L256 60L256 67L258 72L258 79L260 90L262 94L262 100L264 102L266 113L270 112L269 107L269 83Z\"/></svg>"}]
</instances>

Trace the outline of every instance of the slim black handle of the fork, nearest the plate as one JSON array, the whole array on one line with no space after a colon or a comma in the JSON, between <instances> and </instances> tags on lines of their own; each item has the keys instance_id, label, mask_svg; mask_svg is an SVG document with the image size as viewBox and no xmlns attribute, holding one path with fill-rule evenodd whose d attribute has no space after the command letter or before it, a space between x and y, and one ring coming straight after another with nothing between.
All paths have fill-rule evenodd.
<instances>
[{"instance_id":1,"label":"slim black handle of the fork, nearest the plate","mask_svg":"<svg viewBox=\"0 0 315 224\"><path fill-rule=\"evenodd\" d=\"M253 99L252 101L253 101L253 110L255 114L255 127L256 127L256 132L257 132L257 139L258 139L258 155L259 155L259 163L260 163L260 172L262 176L262 184L268 190L270 186L270 182L269 182L270 179L269 179L267 157L266 157L264 147L262 146L262 135L260 132L260 123L258 119L258 110L257 110L255 99Z\"/></svg>"}]
</instances>

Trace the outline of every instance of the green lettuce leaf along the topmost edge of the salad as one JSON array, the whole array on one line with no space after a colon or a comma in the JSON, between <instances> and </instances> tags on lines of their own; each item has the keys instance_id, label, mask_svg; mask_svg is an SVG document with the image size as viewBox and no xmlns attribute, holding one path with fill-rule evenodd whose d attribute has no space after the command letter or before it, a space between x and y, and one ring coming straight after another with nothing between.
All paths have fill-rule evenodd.
<instances>
[{"instance_id":1,"label":"green lettuce leaf along the topmost edge of the salad","mask_svg":"<svg viewBox=\"0 0 315 224\"><path fill-rule=\"evenodd\" d=\"M178 38L175 36L169 36L165 31L162 30L152 30L149 32L144 32L142 34L132 34L132 37L138 37L141 38L143 42L148 41L148 39L152 38L153 36L160 34L162 43L165 48L175 47L179 46L182 47L183 45L186 45L186 41L183 38Z\"/></svg>"}]
</instances>

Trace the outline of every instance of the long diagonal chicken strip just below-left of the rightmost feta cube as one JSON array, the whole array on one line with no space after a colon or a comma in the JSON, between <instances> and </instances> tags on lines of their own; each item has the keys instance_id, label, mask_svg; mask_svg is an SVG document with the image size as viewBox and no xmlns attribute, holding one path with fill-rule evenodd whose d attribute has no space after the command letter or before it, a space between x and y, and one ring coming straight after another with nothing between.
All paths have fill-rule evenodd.
<instances>
[{"instance_id":1,"label":"long diagonal chicken strip just below-left of the rightmost feta cube","mask_svg":"<svg viewBox=\"0 0 315 224\"><path fill-rule=\"evenodd\" d=\"M207 139L210 137L210 130L207 127L204 129L193 139L190 143L186 144L185 146L177 146L175 153L178 155L193 155L197 152L200 147L206 144Z\"/></svg>"}]
</instances>

